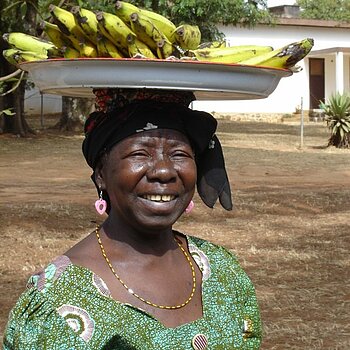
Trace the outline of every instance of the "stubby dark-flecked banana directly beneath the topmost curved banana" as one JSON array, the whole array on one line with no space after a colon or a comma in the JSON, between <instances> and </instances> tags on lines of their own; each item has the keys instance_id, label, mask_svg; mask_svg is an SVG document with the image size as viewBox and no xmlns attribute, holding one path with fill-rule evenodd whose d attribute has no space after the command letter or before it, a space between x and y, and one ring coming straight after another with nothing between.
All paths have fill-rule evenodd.
<instances>
[{"instance_id":1,"label":"stubby dark-flecked banana directly beneath the topmost curved banana","mask_svg":"<svg viewBox=\"0 0 350 350\"><path fill-rule=\"evenodd\" d=\"M163 33L152 21L141 13L133 13L130 19L131 29L137 35L137 38L143 41L153 52L156 52L157 43L166 40Z\"/></svg>"}]
</instances>

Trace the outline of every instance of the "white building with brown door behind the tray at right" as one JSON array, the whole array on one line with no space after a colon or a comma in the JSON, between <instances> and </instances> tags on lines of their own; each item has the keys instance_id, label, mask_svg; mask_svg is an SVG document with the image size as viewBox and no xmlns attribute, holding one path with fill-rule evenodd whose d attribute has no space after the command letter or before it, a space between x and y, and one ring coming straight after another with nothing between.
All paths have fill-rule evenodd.
<instances>
[{"instance_id":1,"label":"white building with brown door behind the tray at right","mask_svg":"<svg viewBox=\"0 0 350 350\"><path fill-rule=\"evenodd\" d=\"M283 17L275 26L257 25L252 29L221 27L229 44L271 45L282 47L304 38L313 38L311 53L298 65L302 71L282 78L276 90L266 99L252 101L196 102L195 108L208 112L293 113L303 101L305 110L319 108L319 101L336 91L350 89L350 24L335 21L292 18L297 6L272 8Z\"/></svg>"}]
</instances>

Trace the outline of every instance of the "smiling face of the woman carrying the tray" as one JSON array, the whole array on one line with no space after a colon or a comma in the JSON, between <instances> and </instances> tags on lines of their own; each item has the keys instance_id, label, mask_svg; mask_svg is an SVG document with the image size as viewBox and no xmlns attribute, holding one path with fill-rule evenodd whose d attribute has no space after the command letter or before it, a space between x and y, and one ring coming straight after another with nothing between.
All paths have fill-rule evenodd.
<instances>
[{"instance_id":1,"label":"smiling face of the woman carrying the tray","mask_svg":"<svg viewBox=\"0 0 350 350\"><path fill-rule=\"evenodd\" d=\"M169 129L122 140L109 152L99 174L110 198L110 216L142 231L171 227L192 199L197 179L187 137Z\"/></svg>"}]
</instances>

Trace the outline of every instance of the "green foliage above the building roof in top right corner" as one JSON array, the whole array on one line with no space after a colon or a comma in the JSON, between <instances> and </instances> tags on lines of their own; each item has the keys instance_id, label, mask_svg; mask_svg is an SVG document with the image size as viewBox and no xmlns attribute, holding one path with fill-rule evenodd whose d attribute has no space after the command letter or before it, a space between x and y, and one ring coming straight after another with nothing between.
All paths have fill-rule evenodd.
<instances>
[{"instance_id":1,"label":"green foliage above the building roof in top right corner","mask_svg":"<svg viewBox=\"0 0 350 350\"><path fill-rule=\"evenodd\" d=\"M302 18L350 22L350 0L297 0L297 4Z\"/></svg>"}]
</instances>

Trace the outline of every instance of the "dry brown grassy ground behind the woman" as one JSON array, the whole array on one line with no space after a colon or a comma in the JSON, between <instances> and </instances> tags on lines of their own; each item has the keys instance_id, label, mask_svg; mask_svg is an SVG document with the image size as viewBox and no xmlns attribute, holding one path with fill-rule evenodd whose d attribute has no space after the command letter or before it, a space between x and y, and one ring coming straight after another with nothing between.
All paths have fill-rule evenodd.
<instances>
[{"instance_id":1,"label":"dry brown grassy ground behind the woman","mask_svg":"<svg viewBox=\"0 0 350 350\"><path fill-rule=\"evenodd\" d=\"M30 120L37 124L37 120ZM38 127L40 129L40 127ZM350 150L322 123L219 121L235 209L196 198L176 228L223 244L253 280L262 349L350 349ZM0 335L27 278L99 220L82 135L0 136Z\"/></svg>"}]
</instances>

